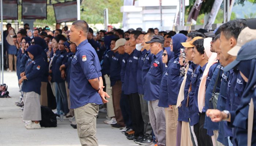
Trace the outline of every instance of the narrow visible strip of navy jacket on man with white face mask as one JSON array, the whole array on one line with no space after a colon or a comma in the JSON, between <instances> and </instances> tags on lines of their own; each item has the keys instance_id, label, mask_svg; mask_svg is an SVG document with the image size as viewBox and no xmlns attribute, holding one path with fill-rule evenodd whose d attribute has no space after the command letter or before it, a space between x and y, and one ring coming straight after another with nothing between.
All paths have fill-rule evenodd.
<instances>
[{"instance_id":1,"label":"narrow visible strip of navy jacket on man with white face mask","mask_svg":"<svg viewBox=\"0 0 256 146\"><path fill-rule=\"evenodd\" d=\"M138 61L137 84L138 84L138 93L139 94L144 94L143 83L142 83L142 67L143 67L143 64L145 61L146 54L147 54L147 50L144 49L141 52L141 55L140 55L139 61Z\"/></svg>"}]
</instances>

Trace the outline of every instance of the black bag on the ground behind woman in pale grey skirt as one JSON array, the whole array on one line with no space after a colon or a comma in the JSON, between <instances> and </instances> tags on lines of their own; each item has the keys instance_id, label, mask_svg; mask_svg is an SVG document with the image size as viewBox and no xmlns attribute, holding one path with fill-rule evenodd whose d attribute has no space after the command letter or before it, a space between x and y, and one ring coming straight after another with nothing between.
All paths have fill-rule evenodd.
<instances>
[{"instance_id":1,"label":"black bag on the ground behind woman in pale grey skirt","mask_svg":"<svg viewBox=\"0 0 256 146\"><path fill-rule=\"evenodd\" d=\"M41 106L41 127L57 127L56 115L49 107Z\"/></svg>"}]
</instances>

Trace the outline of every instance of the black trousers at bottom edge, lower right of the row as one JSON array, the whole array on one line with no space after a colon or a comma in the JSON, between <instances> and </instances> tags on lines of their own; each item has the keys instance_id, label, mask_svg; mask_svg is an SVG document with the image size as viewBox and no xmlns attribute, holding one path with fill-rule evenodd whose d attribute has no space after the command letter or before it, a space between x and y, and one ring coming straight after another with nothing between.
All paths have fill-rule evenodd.
<instances>
[{"instance_id":1,"label":"black trousers at bottom edge, lower right of the row","mask_svg":"<svg viewBox=\"0 0 256 146\"><path fill-rule=\"evenodd\" d=\"M199 123L195 124L194 132L197 139L198 146L212 146L212 139L207 135L207 130L204 128L205 112L200 114Z\"/></svg>"}]
</instances>

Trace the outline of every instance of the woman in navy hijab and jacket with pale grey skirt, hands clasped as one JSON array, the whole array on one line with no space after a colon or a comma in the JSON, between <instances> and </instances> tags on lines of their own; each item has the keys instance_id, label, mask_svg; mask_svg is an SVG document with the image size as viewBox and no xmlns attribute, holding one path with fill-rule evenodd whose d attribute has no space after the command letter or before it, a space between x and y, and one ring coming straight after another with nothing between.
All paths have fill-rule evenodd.
<instances>
[{"instance_id":1,"label":"woman in navy hijab and jacket with pale grey skirt, hands clasped","mask_svg":"<svg viewBox=\"0 0 256 146\"><path fill-rule=\"evenodd\" d=\"M29 46L27 53L32 61L26 67L25 76L21 77L22 91L25 98L23 120L31 120L26 124L27 129L41 128L40 88L44 70L46 68L44 58L41 56L39 45Z\"/></svg>"}]
</instances>

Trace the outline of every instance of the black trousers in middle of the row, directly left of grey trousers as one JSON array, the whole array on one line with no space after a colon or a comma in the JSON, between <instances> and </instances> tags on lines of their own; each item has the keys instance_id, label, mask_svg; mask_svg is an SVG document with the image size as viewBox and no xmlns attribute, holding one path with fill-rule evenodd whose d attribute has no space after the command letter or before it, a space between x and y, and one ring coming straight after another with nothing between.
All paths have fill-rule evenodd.
<instances>
[{"instance_id":1,"label":"black trousers in middle of the row, directly left of grey trousers","mask_svg":"<svg viewBox=\"0 0 256 146\"><path fill-rule=\"evenodd\" d=\"M138 93L128 95L132 112L132 129L135 131L135 137L143 137L144 122L140 109L140 96Z\"/></svg>"}]
</instances>

